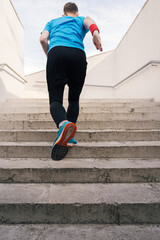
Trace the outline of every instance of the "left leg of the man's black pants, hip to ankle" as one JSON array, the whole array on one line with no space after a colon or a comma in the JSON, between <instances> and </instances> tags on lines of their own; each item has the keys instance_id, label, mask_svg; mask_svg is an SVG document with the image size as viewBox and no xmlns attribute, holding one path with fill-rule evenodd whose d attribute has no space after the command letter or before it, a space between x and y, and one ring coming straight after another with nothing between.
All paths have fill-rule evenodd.
<instances>
[{"instance_id":1,"label":"left leg of the man's black pants, hip to ankle","mask_svg":"<svg viewBox=\"0 0 160 240\"><path fill-rule=\"evenodd\" d=\"M66 74L66 53L63 47L50 50L47 59L47 85L49 92L50 113L57 127L67 114L63 107L63 93L68 82Z\"/></svg>"}]
</instances>

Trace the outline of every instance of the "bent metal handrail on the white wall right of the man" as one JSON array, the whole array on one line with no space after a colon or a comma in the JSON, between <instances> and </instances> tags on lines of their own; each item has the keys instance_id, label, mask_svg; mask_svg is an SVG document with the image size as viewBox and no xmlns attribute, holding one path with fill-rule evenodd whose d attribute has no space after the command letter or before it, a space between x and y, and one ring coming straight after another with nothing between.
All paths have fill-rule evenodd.
<instances>
[{"instance_id":1,"label":"bent metal handrail on the white wall right of the man","mask_svg":"<svg viewBox=\"0 0 160 240\"><path fill-rule=\"evenodd\" d=\"M158 60L149 61L148 63L143 65L141 68L137 69L135 72L133 72L132 74L130 74L129 76L127 76L126 78L124 78L123 80L121 80L120 82L118 82L117 84L112 85L112 86L94 85L94 84L85 84L85 86L115 88L115 87L119 86L120 84L124 83L125 81L127 81L128 79L130 79L131 77L133 77L134 75L136 75L136 74L140 73L141 71L145 70L148 66L150 66L150 65L151 66L157 66L158 64L160 64L160 61L158 61Z\"/></svg>"}]
</instances>

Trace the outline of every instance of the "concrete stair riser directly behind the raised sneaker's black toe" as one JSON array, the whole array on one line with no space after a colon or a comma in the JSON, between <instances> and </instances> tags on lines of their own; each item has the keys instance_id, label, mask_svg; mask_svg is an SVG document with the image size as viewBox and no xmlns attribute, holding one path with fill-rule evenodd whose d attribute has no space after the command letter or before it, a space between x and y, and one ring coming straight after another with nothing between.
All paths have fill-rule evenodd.
<instances>
[{"instance_id":1,"label":"concrete stair riser directly behind the raised sneaker's black toe","mask_svg":"<svg viewBox=\"0 0 160 240\"><path fill-rule=\"evenodd\" d=\"M69 149L68 158L158 158L159 146L107 146L107 147L73 147ZM2 158L50 158L49 146L1 146Z\"/></svg>"}]
</instances>

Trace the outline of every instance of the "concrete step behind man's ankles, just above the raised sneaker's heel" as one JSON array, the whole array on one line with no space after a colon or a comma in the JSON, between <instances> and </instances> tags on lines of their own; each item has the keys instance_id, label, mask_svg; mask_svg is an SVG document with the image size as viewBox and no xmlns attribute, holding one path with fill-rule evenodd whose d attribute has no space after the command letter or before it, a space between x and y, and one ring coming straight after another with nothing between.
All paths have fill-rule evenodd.
<instances>
[{"instance_id":1,"label":"concrete step behind man's ankles, just above the raised sneaker's heel","mask_svg":"<svg viewBox=\"0 0 160 240\"><path fill-rule=\"evenodd\" d=\"M160 120L160 113L82 113L79 120ZM52 120L50 113L0 113L0 120Z\"/></svg>"}]
</instances>

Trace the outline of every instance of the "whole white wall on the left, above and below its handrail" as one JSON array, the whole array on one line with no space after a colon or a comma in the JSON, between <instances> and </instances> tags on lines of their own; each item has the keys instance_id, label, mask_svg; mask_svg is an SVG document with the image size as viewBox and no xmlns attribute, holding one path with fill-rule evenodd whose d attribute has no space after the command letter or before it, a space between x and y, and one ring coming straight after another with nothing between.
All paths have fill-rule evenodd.
<instances>
[{"instance_id":1,"label":"whole white wall on the left, above and below its handrail","mask_svg":"<svg viewBox=\"0 0 160 240\"><path fill-rule=\"evenodd\" d=\"M0 0L0 64L8 64L20 76L24 75L24 29L10 0ZM8 96L24 96L24 81L7 66L0 71L0 101Z\"/></svg>"}]
</instances>

